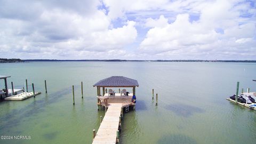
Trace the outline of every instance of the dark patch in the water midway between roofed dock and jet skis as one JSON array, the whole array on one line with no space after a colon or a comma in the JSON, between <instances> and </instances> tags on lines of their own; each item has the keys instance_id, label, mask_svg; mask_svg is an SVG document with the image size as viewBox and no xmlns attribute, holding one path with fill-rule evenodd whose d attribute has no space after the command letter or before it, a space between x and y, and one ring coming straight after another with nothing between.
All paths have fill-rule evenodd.
<instances>
[{"instance_id":1,"label":"dark patch in the water midway between roofed dock and jet skis","mask_svg":"<svg viewBox=\"0 0 256 144\"><path fill-rule=\"evenodd\" d=\"M166 110L171 110L173 111L176 115L178 116L183 116L183 117L189 117L195 113L204 113L205 110L195 107L195 106L189 106L185 104L170 104L165 107Z\"/></svg>"}]
</instances>

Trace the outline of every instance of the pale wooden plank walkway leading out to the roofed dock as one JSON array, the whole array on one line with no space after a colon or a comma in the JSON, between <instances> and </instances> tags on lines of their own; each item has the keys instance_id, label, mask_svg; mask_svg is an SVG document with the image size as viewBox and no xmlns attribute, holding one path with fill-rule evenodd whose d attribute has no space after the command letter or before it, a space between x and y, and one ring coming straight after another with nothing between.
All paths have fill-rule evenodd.
<instances>
[{"instance_id":1,"label":"pale wooden plank walkway leading out to the roofed dock","mask_svg":"<svg viewBox=\"0 0 256 144\"><path fill-rule=\"evenodd\" d=\"M116 143L116 131L119 126L119 116L121 115L122 103L110 103L99 130L93 139L93 144Z\"/></svg>"}]
</instances>

